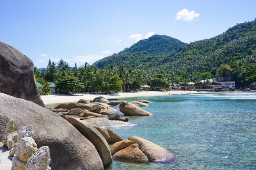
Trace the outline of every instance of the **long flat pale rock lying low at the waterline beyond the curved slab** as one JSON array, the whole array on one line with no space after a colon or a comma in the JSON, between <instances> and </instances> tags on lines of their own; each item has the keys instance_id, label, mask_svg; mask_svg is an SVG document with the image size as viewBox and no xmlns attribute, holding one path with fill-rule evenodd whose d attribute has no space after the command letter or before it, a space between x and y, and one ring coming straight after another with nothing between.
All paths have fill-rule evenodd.
<instances>
[{"instance_id":1,"label":"long flat pale rock lying low at the waterline beyond the curved slab","mask_svg":"<svg viewBox=\"0 0 256 170\"><path fill-rule=\"evenodd\" d=\"M132 124L132 123L127 123L127 122L123 122L123 121L110 121L106 118L89 118L89 119L85 119L83 121L86 121L93 126L105 127L105 128L135 126L135 124Z\"/></svg>"}]
</instances>

